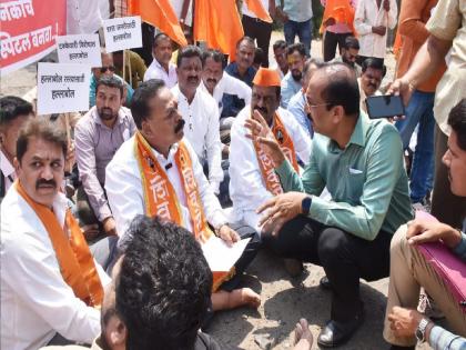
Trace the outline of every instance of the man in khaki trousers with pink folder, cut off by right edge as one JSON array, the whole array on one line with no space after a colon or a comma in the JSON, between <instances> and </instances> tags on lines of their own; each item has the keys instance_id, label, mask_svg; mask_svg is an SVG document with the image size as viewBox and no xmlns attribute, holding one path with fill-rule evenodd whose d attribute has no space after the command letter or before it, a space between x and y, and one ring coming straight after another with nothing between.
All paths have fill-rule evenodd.
<instances>
[{"instance_id":1,"label":"man in khaki trousers with pink folder, cut off by right edge","mask_svg":"<svg viewBox=\"0 0 466 350\"><path fill-rule=\"evenodd\" d=\"M443 162L448 169L452 193L466 197L466 99L452 109L448 126L452 133ZM466 227L462 232L427 214L402 226L396 232L392 240L384 328L384 338L393 344L392 349L414 349L416 338L428 341L434 349L465 349L465 232ZM425 249L430 251L428 256L424 253ZM413 310L417 307L421 287L443 311L453 331L463 339Z\"/></svg>"}]
</instances>

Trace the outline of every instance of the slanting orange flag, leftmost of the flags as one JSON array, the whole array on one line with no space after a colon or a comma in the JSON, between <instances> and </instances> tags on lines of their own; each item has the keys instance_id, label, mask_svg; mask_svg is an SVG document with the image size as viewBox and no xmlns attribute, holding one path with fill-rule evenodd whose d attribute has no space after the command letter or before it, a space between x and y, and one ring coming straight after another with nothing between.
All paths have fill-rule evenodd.
<instances>
[{"instance_id":1,"label":"slanting orange flag, leftmost of the flags","mask_svg":"<svg viewBox=\"0 0 466 350\"><path fill-rule=\"evenodd\" d=\"M170 0L129 0L128 12L141 16L144 22L159 28L182 47L188 46L186 38Z\"/></svg>"}]
</instances>

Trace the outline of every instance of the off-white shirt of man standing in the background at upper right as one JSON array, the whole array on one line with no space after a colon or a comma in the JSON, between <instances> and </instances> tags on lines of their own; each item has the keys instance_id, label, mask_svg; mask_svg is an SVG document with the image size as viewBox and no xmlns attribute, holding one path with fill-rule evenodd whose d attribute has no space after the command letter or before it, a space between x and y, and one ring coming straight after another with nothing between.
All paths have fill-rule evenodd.
<instances>
[{"instance_id":1,"label":"off-white shirt of man standing in the background at upper right","mask_svg":"<svg viewBox=\"0 0 466 350\"><path fill-rule=\"evenodd\" d=\"M389 0L389 11L384 10L384 1L377 8L376 0L358 0L354 27L358 33L359 54L365 57L385 58L388 29L394 29L397 21L398 8L395 0ZM385 36L372 32L372 27L385 26Z\"/></svg>"}]
</instances>

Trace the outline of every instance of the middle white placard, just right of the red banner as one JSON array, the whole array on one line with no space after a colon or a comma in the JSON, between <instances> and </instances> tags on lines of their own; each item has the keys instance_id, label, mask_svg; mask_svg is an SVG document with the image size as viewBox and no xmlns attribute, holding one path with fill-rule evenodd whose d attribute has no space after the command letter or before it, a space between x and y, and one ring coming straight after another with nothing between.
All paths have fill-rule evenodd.
<instances>
[{"instance_id":1,"label":"middle white placard, just right of the red banner","mask_svg":"<svg viewBox=\"0 0 466 350\"><path fill-rule=\"evenodd\" d=\"M102 66L99 34L58 37L57 51L60 63Z\"/></svg>"}]
</instances>

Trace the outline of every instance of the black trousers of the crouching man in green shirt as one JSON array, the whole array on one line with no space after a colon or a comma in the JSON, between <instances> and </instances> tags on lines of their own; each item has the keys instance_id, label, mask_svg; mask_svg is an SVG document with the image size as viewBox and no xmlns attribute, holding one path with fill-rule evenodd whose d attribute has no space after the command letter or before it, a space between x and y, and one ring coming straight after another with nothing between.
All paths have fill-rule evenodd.
<instances>
[{"instance_id":1,"label":"black trousers of the crouching man in green shirt","mask_svg":"<svg viewBox=\"0 0 466 350\"><path fill-rule=\"evenodd\" d=\"M378 280L389 274L392 234L381 231L373 241L306 217L286 222L277 236L262 234L264 247L284 258L324 268L332 283L331 319L348 321L361 310L359 278Z\"/></svg>"}]
</instances>

